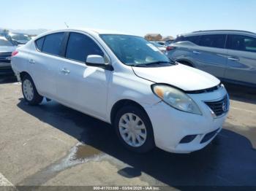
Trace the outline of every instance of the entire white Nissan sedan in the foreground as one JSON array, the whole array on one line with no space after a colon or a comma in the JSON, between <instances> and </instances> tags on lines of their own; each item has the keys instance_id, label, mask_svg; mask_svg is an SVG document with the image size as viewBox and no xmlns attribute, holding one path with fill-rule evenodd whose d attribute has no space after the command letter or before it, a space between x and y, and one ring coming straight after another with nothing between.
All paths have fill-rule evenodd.
<instances>
[{"instance_id":1,"label":"entire white Nissan sedan in the foreground","mask_svg":"<svg viewBox=\"0 0 256 191\"><path fill-rule=\"evenodd\" d=\"M229 110L219 79L171 62L140 36L48 32L13 52L12 69L29 104L45 97L108 122L135 152L202 149Z\"/></svg>"}]
</instances>

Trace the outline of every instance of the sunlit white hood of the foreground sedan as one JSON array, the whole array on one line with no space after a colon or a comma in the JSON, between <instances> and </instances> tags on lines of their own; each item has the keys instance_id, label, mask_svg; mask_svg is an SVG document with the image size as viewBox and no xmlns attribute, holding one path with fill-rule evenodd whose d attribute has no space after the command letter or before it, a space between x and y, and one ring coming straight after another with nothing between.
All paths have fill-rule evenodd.
<instances>
[{"instance_id":1,"label":"sunlit white hood of the foreground sedan","mask_svg":"<svg viewBox=\"0 0 256 191\"><path fill-rule=\"evenodd\" d=\"M173 85L184 91L203 90L219 85L216 77L189 66L132 67L138 77L156 83Z\"/></svg>"}]
</instances>

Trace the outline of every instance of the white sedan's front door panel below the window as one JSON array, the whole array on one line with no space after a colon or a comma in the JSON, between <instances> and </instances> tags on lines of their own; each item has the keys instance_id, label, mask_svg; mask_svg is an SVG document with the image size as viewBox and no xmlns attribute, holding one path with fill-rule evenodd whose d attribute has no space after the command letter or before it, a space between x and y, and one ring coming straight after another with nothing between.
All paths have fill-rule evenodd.
<instances>
[{"instance_id":1,"label":"white sedan's front door panel below the window","mask_svg":"<svg viewBox=\"0 0 256 191\"><path fill-rule=\"evenodd\" d=\"M84 63L67 61L67 59L61 61L60 68L56 74L57 99L80 111L106 119L108 82L110 82L111 72L86 66ZM62 73L62 69L67 69L70 73Z\"/></svg>"}]
</instances>

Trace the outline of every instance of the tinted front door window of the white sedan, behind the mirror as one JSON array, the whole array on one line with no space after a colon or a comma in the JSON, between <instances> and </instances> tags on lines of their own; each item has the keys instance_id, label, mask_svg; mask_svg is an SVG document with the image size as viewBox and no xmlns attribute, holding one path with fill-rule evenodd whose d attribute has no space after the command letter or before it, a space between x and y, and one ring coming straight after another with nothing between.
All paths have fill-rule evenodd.
<instances>
[{"instance_id":1,"label":"tinted front door window of the white sedan, behind the mirror","mask_svg":"<svg viewBox=\"0 0 256 191\"><path fill-rule=\"evenodd\" d=\"M70 33L69 42L67 43L66 58L86 62L88 55L101 55L104 53L99 46L84 34Z\"/></svg>"}]
</instances>

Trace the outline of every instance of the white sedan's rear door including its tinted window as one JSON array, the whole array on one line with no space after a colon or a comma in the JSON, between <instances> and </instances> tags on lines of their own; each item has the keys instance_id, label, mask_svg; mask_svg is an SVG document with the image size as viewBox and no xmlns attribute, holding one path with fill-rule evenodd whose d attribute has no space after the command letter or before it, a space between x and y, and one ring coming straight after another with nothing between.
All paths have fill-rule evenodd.
<instances>
[{"instance_id":1,"label":"white sedan's rear door including its tinted window","mask_svg":"<svg viewBox=\"0 0 256 191\"><path fill-rule=\"evenodd\" d=\"M64 32L49 34L37 39L36 49L29 55L29 74L37 90L49 98L56 98L56 74L61 61Z\"/></svg>"}]
</instances>

